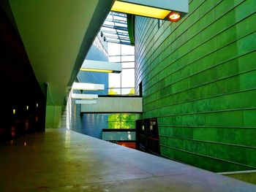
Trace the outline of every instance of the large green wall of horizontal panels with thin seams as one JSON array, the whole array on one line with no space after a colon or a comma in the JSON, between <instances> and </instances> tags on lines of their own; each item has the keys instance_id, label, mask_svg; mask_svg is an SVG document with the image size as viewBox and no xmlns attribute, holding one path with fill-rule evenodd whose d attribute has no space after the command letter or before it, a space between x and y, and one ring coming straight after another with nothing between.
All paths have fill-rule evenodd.
<instances>
[{"instance_id":1,"label":"large green wall of horizontal panels with thin seams","mask_svg":"<svg viewBox=\"0 0 256 192\"><path fill-rule=\"evenodd\" d=\"M178 23L135 18L136 91L165 157L256 169L255 12L255 0L193 0Z\"/></svg>"}]
</instances>

